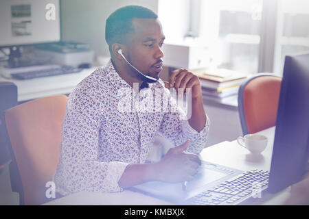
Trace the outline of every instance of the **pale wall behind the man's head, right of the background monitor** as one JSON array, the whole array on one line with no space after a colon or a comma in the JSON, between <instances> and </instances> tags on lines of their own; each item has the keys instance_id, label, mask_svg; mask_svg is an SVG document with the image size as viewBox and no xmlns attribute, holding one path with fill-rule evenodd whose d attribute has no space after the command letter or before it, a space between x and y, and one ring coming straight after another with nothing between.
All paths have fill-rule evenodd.
<instances>
[{"instance_id":1,"label":"pale wall behind the man's head, right of the background monitor","mask_svg":"<svg viewBox=\"0 0 309 219\"><path fill-rule=\"evenodd\" d=\"M62 40L87 42L96 55L109 56L105 22L112 12L125 5L141 5L158 12L158 0L62 0Z\"/></svg>"}]
</instances>

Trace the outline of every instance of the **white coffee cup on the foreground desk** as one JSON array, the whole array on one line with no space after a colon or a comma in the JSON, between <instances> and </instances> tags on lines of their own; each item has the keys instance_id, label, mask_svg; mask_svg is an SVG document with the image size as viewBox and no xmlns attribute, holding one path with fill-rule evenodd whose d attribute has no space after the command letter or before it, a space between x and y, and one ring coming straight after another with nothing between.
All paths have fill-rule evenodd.
<instances>
[{"instance_id":1,"label":"white coffee cup on the foreground desk","mask_svg":"<svg viewBox=\"0 0 309 219\"><path fill-rule=\"evenodd\" d=\"M268 138L263 135L248 134L244 137L238 137L237 142L251 153L259 154L266 149Z\"/></svg>"}]
</instances>

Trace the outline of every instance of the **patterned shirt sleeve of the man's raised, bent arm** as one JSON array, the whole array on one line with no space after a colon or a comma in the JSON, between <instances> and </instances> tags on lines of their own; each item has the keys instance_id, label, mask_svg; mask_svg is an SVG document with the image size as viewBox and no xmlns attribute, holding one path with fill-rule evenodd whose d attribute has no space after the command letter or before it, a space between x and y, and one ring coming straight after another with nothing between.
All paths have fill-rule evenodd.
<instances>
[{"instance_id":1,"label":"patterned shirt sleeve of the man's raised, bent arm","mask_svg":"<svg viewBox=\"0 0 309 219\"><path fill-rule=\"evenodd\" d=\"M170 106L168 112L165 112L163 116L160 132L165 138L172 141L174 146L183 144L189 138L190 144L186 151L196 154L201 153L207 144L210 127L209 117L206 115L207 119L204 128L201 131L196 131L190 126L185 112L177 105L176 100L172 98L169 91L167 97Z\"/></svg>"}]
</instances>

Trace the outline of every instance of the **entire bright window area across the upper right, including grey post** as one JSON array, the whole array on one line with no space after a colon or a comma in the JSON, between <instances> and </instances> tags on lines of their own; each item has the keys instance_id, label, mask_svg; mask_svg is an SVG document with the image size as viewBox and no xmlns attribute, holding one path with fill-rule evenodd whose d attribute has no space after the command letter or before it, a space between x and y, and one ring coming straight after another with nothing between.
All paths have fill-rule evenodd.
<instances>
[{"instance_id":1,"label":"entire bright window area across the upper right, including grey post","mask_svg":"<svg viewBox=\"0 0 309 219\"><path fill-rule=\"evenodd\" d=\"M195 36L207 44L211 67L282 75L285 55L309 50L308 0L171 1L177 10L166 2L159 18L163 29L169 24L167 39Z\"/></svg>"}]
</instances>

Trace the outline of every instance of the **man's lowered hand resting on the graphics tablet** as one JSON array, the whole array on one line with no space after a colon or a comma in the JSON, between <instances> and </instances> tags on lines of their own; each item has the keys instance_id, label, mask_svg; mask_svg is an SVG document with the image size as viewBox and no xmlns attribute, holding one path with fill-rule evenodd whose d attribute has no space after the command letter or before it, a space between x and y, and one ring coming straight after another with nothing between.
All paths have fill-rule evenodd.
<instances>
[{"instance_id":1,"label":"man's lowered hand resting on the graphics tablet","mask_svg":"<svg viewBox=\"0 0 309 219\"><path fill-rule=\"evenodd\" d=\"M201 160L197 155L183 152L189 146L189 142L187 140L184 144L170 149L157 164L159 181L176 183L194 178Z\"/></svg>"}]
</instances>

